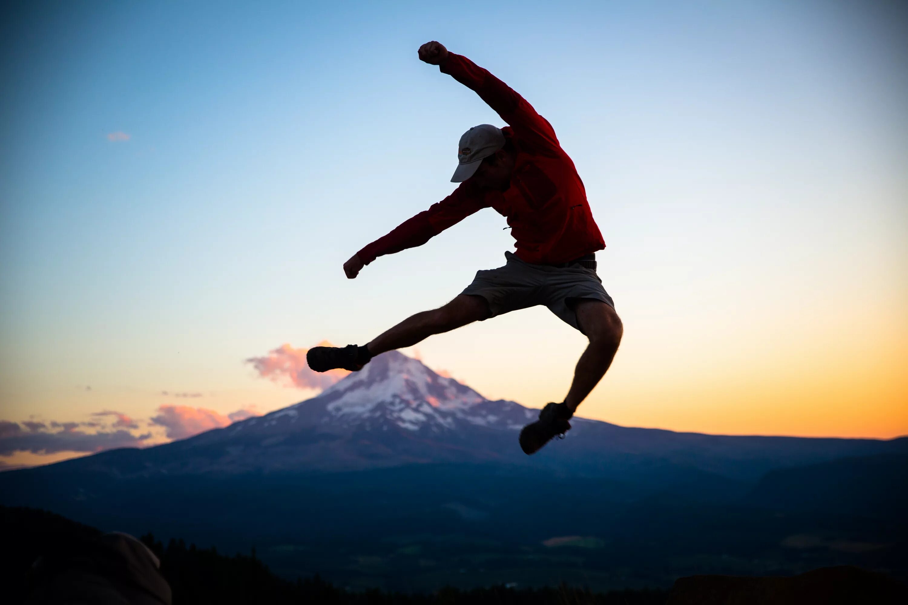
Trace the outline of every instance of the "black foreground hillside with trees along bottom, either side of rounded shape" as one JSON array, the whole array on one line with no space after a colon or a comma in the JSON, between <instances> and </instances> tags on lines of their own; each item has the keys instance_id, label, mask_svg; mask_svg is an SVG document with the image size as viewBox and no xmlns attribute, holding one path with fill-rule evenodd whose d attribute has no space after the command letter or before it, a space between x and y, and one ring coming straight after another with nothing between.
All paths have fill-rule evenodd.
<instances>
[{"instance_id":1,"label":"black foreground hillside with trees along bottom, either side of rounded shape","mask_svg":"<svg viewBox=\"0 0 908 605\"><path fill-rule=\"evenodd\" d=\"M33 570L35 561L39 558L51 561L63 552L87 552L89 549L85 547L102 533L51 512L7 507L0 507L0 532L4 536L0 581L5 587L5 602L10 603L24 602L44 581ZM171 540L164 545L151 533L144 535L142 541L161 560L161 573L173 590L174 605L656 605L664 603L667 594L661 590L596 593L564 584L537 590L505 586L474 590L443 588L427 594L351 591L318 576L296 581L281 578L269 570L254 549L248 554L225 555L216 548L199 549L183 540Z\"/></svg>"}]
</instances>

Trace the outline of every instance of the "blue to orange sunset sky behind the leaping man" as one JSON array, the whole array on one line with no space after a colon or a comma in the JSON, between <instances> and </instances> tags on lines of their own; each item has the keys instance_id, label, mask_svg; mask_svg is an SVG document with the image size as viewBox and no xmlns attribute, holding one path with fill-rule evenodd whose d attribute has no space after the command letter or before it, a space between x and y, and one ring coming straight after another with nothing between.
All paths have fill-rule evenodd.
<instances>
[{"instance_id":1,"label":"blue to orange sunset sky behind the leaping man","mask_svg":"<svg viewBox=\"0 0 908 605\"><path fill-rule=\"evenodd\" d=\"M341 269L454 189L462 132L504 125L419 62L429 40L532 103L586 185L625 337L580 415L908 434L900 3L4 10L0 468L317 395L287 377L307 347L364 344L502 265L487 209ZM541 407L584 346L536 307L405 353Z\"/></svg>"}]
</instances>

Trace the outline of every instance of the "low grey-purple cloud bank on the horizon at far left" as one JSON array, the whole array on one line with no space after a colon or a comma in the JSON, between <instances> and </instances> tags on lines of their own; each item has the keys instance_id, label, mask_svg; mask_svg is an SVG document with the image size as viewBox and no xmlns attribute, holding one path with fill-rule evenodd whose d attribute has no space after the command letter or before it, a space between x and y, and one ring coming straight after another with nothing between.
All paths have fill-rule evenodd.
<instances>
[{"instance_id":1,"label":"low grey-purple cloud bank on the horizon at far left","mask_svg":"<svg viewBox=\"0 0 908 605\"><path fill-rule=\"evenodd\" d=\"M0 455L15 452L54 454L56 452L101 452L115 447L138 447L152 434L134 435L123 429L85 433L77 430L78 423L52 422L52 427L63 430L49 431L44 423L20 424L0 420Z\"/></svg>"}]
</instances>

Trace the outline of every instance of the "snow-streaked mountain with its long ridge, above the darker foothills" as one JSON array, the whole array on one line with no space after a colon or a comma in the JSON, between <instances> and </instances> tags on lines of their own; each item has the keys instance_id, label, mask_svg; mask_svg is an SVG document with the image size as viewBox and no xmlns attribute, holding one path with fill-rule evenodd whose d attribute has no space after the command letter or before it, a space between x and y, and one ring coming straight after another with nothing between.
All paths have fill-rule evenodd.
<instances>
[{"instance_id":1,"label":"snow-streaked mountain with its long ridge, above the darker foothills","mask_svg":"<svg viewBox=\"0 0 908 605\"><path fill-rule=\"evenodd\" d=\"M537 415L538 410L513 401L489 400L392 351L320 395L269 414L170 444L109 450L42 468L130 477L507 464L662 483L702 473L755 481L775 468L847 456L908 454L904 437L884 441L677 433L575 417L564 441L528 457L519 451L518 429ZM29 469L3 474L23 472Z\"/></svg>"}]
</instances>

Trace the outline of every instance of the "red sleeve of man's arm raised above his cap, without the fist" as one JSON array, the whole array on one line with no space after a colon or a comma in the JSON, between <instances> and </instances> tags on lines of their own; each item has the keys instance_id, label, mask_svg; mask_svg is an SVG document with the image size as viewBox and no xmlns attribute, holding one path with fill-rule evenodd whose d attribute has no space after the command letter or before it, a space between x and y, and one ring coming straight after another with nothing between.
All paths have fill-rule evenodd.
<instances>
[{"instance_id":1,"label":"red sleeve of man's arm raised above his cap, without the fist","mask_svg":"<svg viewBox=\"0 0 908 605\"><path fill-rule=\"evenodd\" d=\"M510 124L518 136L535 139L538 143L558 147L558 137L548 120L533 109L526 99L508 84L501 82L489 70L479 67L467 57L449 52L439 65L441 73L448 73L459 83L479 94L501 119Z\"/></svg>"}]
</instances>

